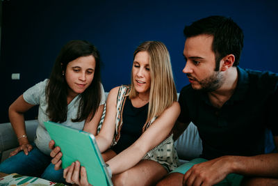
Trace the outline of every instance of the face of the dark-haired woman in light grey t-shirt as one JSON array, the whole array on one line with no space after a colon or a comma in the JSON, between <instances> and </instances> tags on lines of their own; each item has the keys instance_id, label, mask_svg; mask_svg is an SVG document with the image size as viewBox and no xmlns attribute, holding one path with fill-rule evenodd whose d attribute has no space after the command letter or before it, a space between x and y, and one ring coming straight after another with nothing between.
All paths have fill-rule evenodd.
<instances>
[{"instance_id":1,"label":"face of the dark-haired woman in light grey t-shirt","mask_svg":"<svg viewBox=\"0 0 278 186\"><path fill-rule=\"evenodd\" d=\"M94 79L95 64L94 56L81 56L67 64L65 80L69 97L74 98L90 86Z\"/></svg>"}]
</instances>

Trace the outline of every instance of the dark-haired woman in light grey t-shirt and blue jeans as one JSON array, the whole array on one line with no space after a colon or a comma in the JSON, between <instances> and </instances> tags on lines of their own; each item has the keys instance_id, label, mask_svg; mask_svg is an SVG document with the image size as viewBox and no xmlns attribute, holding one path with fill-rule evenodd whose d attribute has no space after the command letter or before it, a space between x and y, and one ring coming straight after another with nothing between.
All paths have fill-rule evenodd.
<instances>
[{"instance_id":1,"label":"dark-haired woman in light grey t-shirt and blue jeans","mask_svg":"<svg viewBox=\"0 0 278 186\"><path fill-rule=\"evenodd\" d=\"M0 172L37 176L63 182L63 171L51 164L49 141L44 121L97 133L104 110L104 88L100 82L100 56L85 40L72 40L61 49L49 79L35 84L20 95L9 108L10 123L19 147L0 164ZM34 143L26 136L24 112L39 105L38 128Z\"/></svg>"}]
</instances>

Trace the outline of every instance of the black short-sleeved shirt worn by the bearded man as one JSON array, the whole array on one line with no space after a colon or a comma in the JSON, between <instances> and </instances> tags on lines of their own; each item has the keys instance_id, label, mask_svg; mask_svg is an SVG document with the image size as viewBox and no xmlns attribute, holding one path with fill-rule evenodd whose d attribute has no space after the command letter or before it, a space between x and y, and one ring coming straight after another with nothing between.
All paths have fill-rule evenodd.
<instances>
[{"instance_id":1,"label":"black short-sleeved shirt worn by the bearded man","mask_svg":"<svg viewBox=\"0 0 278 186\"><path fill-rule=\"evenodd\" d=\"M189 84L179 95L182 123L192 121L202 139L202 157L264 153L265 128L278 135L278 75L238 69L238 84L221 109L213 107L207 93Z\"/></svg>"}]
</instances>

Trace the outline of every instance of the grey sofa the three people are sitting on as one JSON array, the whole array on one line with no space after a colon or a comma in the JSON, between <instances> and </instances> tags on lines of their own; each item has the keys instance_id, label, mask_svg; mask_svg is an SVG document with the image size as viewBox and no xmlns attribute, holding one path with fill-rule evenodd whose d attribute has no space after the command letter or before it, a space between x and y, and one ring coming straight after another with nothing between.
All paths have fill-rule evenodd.
<instances>
[{"instance_id":1,"label":"grey sofa the three people are sitting on","mask_svg":"<svg viewBox=\"0 0 278 186\"><path fill-rule=\"evenodd\" d=\"M35 130L38 126L37 120L25 121L26 133L30 142L35 138ZM0 123L0 159L6 160L10 152L17 148L18 142L13 127L10 123ZM202 141L199 139L197 128L193 123L174 142L181 163L192 160L202 153Z\"/></svg>"}]
</instances>

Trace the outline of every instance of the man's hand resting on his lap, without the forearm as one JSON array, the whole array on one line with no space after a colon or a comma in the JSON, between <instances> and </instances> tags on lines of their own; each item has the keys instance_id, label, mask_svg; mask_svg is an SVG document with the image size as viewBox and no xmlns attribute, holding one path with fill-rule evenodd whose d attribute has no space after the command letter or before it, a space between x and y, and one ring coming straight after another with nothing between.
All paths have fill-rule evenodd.
<instances>
[{"instance_id":1,"label":"man's hand resting on his lap, without the forearm","mask_svg":"<svg viewBox=\"0 0 278 186\"><path fill-rule=\"evenodd\" d=\"M183 176L183 185L215 185L231 173L228 156L195 164Z\"/></svg>"}]
</instances>

